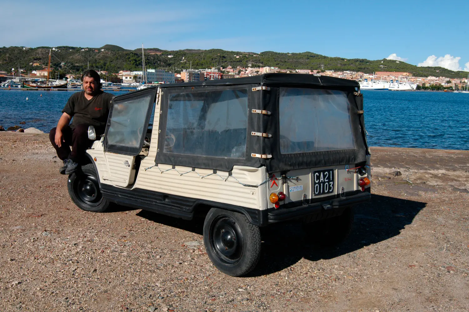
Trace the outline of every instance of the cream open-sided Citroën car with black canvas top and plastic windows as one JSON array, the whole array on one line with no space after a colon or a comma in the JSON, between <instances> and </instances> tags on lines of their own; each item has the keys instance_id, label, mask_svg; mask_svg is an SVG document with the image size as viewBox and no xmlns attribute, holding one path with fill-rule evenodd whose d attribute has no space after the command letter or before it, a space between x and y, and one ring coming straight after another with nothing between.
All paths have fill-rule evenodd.
<instances>
[{"instance_id":1,"label":"cream open-sided Citro\u00ebn car with black canvas top and plastic windows","mask_svg":"<svg viewBox=\"0 0 469 312\"><path fill-rule=\"evenodd\" d=\"M93 138L90 129L89 136ZM260 227L300 220L326 244L370 199L370 152L356 81L264 74L165 84L113 99L89 164L68 179L87 211L110 202L191 220L222 272L260 256Z\"/></svg>"}]
</instances>

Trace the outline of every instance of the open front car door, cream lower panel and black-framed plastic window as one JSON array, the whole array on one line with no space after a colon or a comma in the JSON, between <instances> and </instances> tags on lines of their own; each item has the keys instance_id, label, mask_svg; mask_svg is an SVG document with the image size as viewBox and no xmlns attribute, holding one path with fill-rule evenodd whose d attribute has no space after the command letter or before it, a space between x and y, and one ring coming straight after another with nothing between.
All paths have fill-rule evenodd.
<instances>
[{"instance_id":1,"label":"open front car door, cream lower panel and black-framed plastic window","mask_svg":"<svg viewBox=\"0 0 469 312\"><path fill-rule=\"evenodd\" d=\"M109 176L106 180L127 187L135 180L135 158L142 151L155 103L157 87L117 96L112 101L104 135Z\"/></svg>"}]
</instances>

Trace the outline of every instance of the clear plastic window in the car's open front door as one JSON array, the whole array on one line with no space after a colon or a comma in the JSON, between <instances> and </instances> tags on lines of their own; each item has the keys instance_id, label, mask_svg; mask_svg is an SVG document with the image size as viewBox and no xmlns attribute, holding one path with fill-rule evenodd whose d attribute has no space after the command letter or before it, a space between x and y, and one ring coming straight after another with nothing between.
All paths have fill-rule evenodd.
<instances>
[{"instance_id":1,"label":"clear plastic window in the car's open front door","mask_svg":"<svg viewBox=\"0 0 469 312\"><path fill-rule=\"evenodd\" d=\"M147 131L144 125L151 97L152 94L148 94L145 97L113 104L107 132L108 144L139 147L140 140Z\"/></svg>"}]
</instances>

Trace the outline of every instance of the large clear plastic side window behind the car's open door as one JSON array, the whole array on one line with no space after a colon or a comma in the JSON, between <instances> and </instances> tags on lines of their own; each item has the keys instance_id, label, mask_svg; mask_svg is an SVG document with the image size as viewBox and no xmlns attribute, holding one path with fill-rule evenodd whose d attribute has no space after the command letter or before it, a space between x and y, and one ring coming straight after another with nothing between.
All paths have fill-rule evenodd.
<instances>
[{"instance_id":1,"label":"large clear plastic side window behind the car's open door","mask_svg":"<svg viewBox=\"0 0 469 312\"><path fill-rule=\"evenodd\" d=\"M248 90L171 94L164 152L244 158Z\"/></svg>"}]
</instances>

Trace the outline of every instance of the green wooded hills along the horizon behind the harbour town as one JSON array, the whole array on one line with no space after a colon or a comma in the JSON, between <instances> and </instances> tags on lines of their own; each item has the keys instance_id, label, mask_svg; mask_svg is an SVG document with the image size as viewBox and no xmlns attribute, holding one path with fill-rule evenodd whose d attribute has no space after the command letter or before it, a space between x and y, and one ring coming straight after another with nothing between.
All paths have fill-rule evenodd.
<instances>
[{"instance_id":1,"label":"green wooded hills along the horizon behind the harbour town","mask_svg":"<svg viewBox=\"0 0 469 312\"><path fill-rule=\"evenodd\" d=\"M8 71L11 68L24 68L26 71L47 66L49 47L30 48L23 47L0 48L0 70ZM142 68L141 49L126 50L117 45L106 44L101 48L60 46L60 51L52 51L51 64L55 70L62 73L81 73L89 62L90 68L106 70L117 73L120 70L138 70ZM86 49L86 48L85 48ZM105 49L105 51L100 51ZM404 62L396 63L393 60L368 60L365 58L339 58L327 57L313 52L280 53L265 51L261 53L225 51L220 49L194 50L185 49L166 51L159 48L147 48L145 62L147 68L166 69L168 71L181 71L192 68L211 67L262 67L276 66L281 69L310 69L356 71L373 73L378 71L409 72L414 76L445 76L448 78L465 78L467 72L454 72L442 67L417 67ZM173 57L168 57L168 56ZM238 58L236 57L238 56ZM39 63L40 66L34 66ZM61 64L63 63L63 64Z\"/></svg>"}]
</instances>

